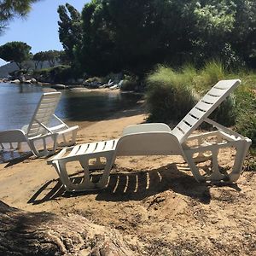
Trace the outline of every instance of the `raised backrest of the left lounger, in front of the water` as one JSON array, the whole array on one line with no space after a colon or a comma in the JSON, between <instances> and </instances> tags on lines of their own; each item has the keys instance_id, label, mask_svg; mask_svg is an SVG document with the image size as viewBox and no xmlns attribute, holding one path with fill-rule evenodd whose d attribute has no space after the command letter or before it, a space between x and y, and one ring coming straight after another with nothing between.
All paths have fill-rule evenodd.
<instances>
[{"instance_id":1,"label":"raised backrest of the left lounger, in front of the water","mask_svg":"<svg viewBox=\"0 0 256 256\"><path fill-rule=\"evenodd\" d=\"M57 107L60 98L61 92L48 92L41 96L41 99L38 102L38 107L36 108L31 123L28 125L26 131L28 137L47 133L47 130L44 129L43 125L49 126L49 122L52 115L55 113L55 108Z\"/></svg>"}]
</instances>

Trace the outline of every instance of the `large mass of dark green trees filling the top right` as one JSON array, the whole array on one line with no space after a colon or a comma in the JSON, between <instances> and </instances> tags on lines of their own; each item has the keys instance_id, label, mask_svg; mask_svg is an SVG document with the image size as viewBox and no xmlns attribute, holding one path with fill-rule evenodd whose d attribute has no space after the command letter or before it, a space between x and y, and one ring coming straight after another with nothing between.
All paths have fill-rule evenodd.
<instances>
[{"instance_id":1,"label":"large mass of dark green trees filling the top right","mask_svg":"<svg viewBox=\"0 0 256 256\"><path fill-rule=\"evenodd\" d=\"M65 51L91 75L212 58L256 67L253 0L92 0L81 16L70 5L59 15Z\"/></svg>"}]
</instances>

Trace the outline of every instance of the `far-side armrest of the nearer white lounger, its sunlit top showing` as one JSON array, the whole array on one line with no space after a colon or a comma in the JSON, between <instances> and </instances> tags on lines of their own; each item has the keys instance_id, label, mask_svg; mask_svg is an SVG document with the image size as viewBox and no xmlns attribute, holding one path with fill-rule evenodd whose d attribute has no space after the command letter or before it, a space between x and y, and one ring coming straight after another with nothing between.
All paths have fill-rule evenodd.
<instances>
[{"instance_id":1,"label":"far-side armrest of the nearer white lounger, its sunlit top showing","mask_svg":"<svg viewBox=\"0 0 256 256\"><path fill-rule=\"evenodd\" d=\"M122 135L125 136L128 134L141 133L141 132L154 132L154 131L171 132L171 129L168 125L163 123L129 125L125 127Z\"/></svg>"}]
</instances>

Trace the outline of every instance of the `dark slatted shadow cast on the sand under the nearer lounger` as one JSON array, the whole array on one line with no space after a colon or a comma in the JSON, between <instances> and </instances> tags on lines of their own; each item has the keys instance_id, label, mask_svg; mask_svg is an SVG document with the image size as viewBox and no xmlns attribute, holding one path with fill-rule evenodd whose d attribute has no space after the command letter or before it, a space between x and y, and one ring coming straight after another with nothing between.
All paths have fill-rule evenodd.
<instances>
[{"instance_id":1,"label":"dark slatted shadow cast on the sand under the nearer lounger","mask_svg":"<svg viewBox=\"0 0 256 256\"><path fill-rule=\"evenodd\" d=\"M28 203L40 204L59 197L68 198L92 194L96 195L96 201L141 201L150 195L157 195L166 190L187 195L204 204L209 204L211 201L209 189L212 184L197 183L194 177L186 172L178 171L177 164L170 164L149 171L134 172L130 169L117 171L110 174L105 189L94 191L67 192L60 179L51 180L38 189ZM79 183L81 180L81 177L73 177L74 183Z\"/></svg>"}]
</instances>

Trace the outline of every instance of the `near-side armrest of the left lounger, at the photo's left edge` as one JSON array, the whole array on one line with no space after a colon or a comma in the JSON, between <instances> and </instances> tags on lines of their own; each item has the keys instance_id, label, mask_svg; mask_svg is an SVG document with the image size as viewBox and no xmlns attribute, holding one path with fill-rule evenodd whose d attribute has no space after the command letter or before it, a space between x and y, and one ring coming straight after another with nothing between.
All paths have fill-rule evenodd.
<instances>
[{"instance_id":1,"label":"near-side armrest of the left lounger, at the photo's left edge","mask_svg":"<svg viewBox=\"0 0 256 256\"><path fill-rule=\"evenodd\" d=\"M20 129L0 131L0 143L27 142L25 132Z\"/></svg>"}]
</instances>

